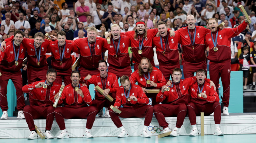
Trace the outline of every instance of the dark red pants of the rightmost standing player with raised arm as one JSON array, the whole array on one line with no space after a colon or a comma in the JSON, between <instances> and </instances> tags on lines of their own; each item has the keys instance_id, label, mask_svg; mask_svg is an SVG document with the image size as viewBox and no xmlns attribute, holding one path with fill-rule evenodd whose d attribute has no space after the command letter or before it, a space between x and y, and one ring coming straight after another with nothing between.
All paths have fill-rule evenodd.
<instances>
[{"instance_id":1,"label":"dark red pants of the rightmost standing player with raised arm","mask_svg":"<svg viewBox=\"0 0 256 143\"><path fill-rule=\"evenodd\" d=\"M223 99L222 103L225 107L228 107L229 96L230 96L230 69L231 63L211 63L209 66L210 80L213 81L216 87L219 87L219 82L221 78L223 86ZM219 94L219 88L216 88Z\"/></svg>"}]
</instances>

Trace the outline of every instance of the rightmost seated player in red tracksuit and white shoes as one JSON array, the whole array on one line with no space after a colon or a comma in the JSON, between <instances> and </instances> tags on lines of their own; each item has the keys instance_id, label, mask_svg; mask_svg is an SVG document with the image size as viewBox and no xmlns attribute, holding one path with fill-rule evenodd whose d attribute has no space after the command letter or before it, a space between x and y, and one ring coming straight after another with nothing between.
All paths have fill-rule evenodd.
<instances>
[{"instance_id":1,"label":"rightmost seated player in red tracksuit and white shoes","mask_svg":"<svg viewBox=\"0 0 256 143\"><path fill-rule=\"evenodd\" d=\"M213 88L210 88L210 84L204 80L205 78L206 71L198 69L196 71L197 82L189 88L190 100L187 110L191 126L193 127L189 136L199 135L196 127L196 116L200 116L201 112L204 112L205 116L214 112L215 130L213 135L223 136L223 133L220 131L221 107L219 95Z\"/></svg>"}]
</instances>

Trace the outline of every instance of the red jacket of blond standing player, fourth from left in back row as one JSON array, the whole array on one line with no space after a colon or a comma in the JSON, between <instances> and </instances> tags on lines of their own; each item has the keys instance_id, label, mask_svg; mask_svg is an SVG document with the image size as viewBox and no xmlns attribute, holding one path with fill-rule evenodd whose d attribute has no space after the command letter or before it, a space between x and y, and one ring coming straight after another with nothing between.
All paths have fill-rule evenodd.
<instances>
[{"instance_id":1,"label":"red jacket of blond standing player, fourth from left in back row","mask_svg":"<svg viewBox=\"0 0 256 143\"><path fill-rule=\"evenodd\" d=\"M90 43L92 55L90 52L90 48L88 46L87 39L88 37L79 38L74 41L78 47L78 53L80 54L79 68L96 69L98 68L99 60L102 60L101 52L102 52L105 38L97 37L95 42ZM95 44L95 48L93 50L94 44Z\"/></svg>"}]
</instances>

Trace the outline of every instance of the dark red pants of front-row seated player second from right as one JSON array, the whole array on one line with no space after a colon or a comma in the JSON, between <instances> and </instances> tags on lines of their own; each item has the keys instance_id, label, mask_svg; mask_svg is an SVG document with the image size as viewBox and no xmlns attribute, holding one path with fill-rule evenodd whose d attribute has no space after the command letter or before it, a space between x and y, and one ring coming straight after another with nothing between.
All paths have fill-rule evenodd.
<instances>
[{"instance_id":1,"label":"dark red pants of front-row seated player second from right","mask_svg":"<svg viewBox=\"0 0 256 143\"><path fill-rule=\"evenodd\" d=\"M183 121L187 114L187 105L173 105L173 104L157 104L154 106L155 118L159 125L163 128L168 127L168 123L165 121L164 117L175 117L177 116L176 127L181 128Z\"/></svg>"}]
</instances>

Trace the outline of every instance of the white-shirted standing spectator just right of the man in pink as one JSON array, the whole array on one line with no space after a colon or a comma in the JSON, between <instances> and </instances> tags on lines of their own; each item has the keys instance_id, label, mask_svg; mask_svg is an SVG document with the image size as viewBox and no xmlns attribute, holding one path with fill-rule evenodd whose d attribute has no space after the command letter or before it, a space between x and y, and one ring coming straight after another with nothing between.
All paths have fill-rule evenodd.
<instances>
[{"instance_id":1,"label":"white-shirted standing spectator just right of the man in pink","mask_svg":"<svg viewBox=\"0 0 256 143\"><path fill-rule=\"evenodd\" d=\"M96 29L101 27L101 18L103 17L104 11L101 11L101 5L96 4L97 10L92 12L93 23L95 24Z\"/></svg>"}]
</instances>

